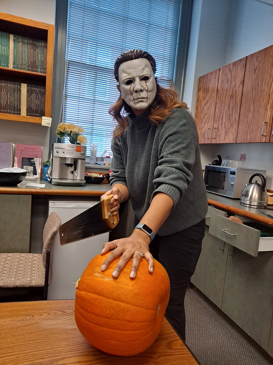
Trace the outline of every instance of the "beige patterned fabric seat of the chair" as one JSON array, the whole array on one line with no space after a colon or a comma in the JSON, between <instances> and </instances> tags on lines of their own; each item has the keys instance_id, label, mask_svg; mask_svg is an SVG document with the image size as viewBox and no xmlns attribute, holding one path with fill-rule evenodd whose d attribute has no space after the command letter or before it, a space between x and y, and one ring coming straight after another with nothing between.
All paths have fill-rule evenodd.
<instances>
[{"instance_id":1,"label":"beige patterned fabric seat of the chair","mask_svg":"<svg viewBox=\"0 0 273 365\"><path fill-rule=\"evenodd\" d=\"M0 253L0 288L43 287L41 254Z\"/></svg>"}]
</instances>

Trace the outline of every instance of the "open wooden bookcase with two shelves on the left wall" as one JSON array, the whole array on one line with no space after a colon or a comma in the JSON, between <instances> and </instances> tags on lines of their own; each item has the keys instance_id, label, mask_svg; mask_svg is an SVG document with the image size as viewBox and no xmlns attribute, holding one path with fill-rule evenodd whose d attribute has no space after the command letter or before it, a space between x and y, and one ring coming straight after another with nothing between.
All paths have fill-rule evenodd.
<instances>
[{"instance_id":1,"label":"open wooden bookcase with two shelves on the left wall","mask_svg":"<svg viewBox=\"0 0 273 365\"><path fill-rule=\"evenodd\" d=\"M35 113L27 113L21 110L21 112L16 111L16 114L11 114L6 112L3 112L1 110L0 112L0 119L5 120L17 120L20 122L30 122L30 123L40 123L42 121L42 116L51 117L51 104L52 104L52 76L53 76L53 52L54 52L54 25L47 24L47 23L41 23L37 22L35 20L25 19L21 18L19 16L4 14L0 12L0 31L12 35L16 35L16 37L19 39L18 43L19 46L16 46L13 48L13 55L16 53L16 55L21 55L22 59L24 57L26 58L26 52L23 53L24 47L20 46L20 42L26 42L25 37L28 38L28 46L26 49L30 50L32 49L33 52L35 52L35 46L33 40L38 40L40 42L44 42L44 47L46 47L46 69L45 72L33 72L29 70L23 70L23 69L17 69L16 67L10 67L11 62L6 62L5 67L0 67L0 80L8 81L8 82L16 82L20 84L27 84L31 85L31 87L36 88L37 93L40 93L40 89L43 88L43 101L41 101L41 109L39 110L39 107L37 108ZM20 39L21 37L21 39ZM16 42L17 42L16 38ZM8 42L8 41L7 41ZM9 47L10 43L7 43L6 49ZM15 43L14 43L15 44ZM3 45L3 43L2 43ZM31 48L32 47L32 48ZM40 47L40 45L39 45ZM3 52L2 52L3 53ZM40 62L39 55L40 55L40 48L36 52L37 57L33 56L33 60L35 59L37 62ZM22 60L21 60L22 61ZM32 61L32 62L36 62ZM44 62L44 60L43 60ZM9 67L7 67L9 66ZM33 69L35 69L33 67ZM9 87L9 86L8 86ZM0 93L3 95L4 93L7 94L6 91L3 90L3 86L1 87ZM23 87L22 87L23 89ZM45 96L44 96L44 89L45 89ZM34 93L32 92L32 93ZM11 93L14 93L16 95L17 93L14 91L11 91ZM2 96L3 97L3 96ZM18 96L16 98L21 97L25 100L25 95L23 96L22 93L18 93ZM40 98L40 99L39 99ZM14 96L15 99L15 96ZM23 99L22 99L23 100ZM42 100L40 96L33 97L33 105L36 104L36 100ZM6 103L2 103L1 105L5 105ZM15 100L15 104L18 104L18 101ZM29 105L29 101L26 103L27 107ZM21 108L19 107L19 110ZM9 110L9 109L8 109ZM39 111L41 112L40 115ZM26 114L34 114L34 115L40 115L40 116L29 116Z\"/></svg>"}]
</instances>

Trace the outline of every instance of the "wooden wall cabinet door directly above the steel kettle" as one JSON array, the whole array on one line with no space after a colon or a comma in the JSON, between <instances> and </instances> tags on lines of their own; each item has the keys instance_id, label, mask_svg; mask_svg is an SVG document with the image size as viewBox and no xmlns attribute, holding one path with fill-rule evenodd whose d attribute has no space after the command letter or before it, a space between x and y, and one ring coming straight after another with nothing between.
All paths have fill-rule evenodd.
<instances>
[{"instance_id":1,"label":"wooden wall cabinet door directly above the steel kettle","mask_svg":"<svg viewBox=\"0 0 273 365\"><path fill-rule=\"evenodd\" d=\"M273 45L246 60L237 143L273 142Z\"/></svg>"}]
</instances>

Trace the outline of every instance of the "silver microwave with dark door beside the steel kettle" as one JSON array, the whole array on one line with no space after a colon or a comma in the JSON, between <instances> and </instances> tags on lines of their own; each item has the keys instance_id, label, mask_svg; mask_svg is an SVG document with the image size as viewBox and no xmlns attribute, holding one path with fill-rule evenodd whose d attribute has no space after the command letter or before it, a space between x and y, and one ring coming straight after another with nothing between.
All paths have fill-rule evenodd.
<instances>
[{"instance_id":1,"label":"silver microwave with dark door beside the steel kettle","mask_svg":"<svg viewBox=\"0 0 273 365\"><path fill-rule=\"evenodd\" d=\"M265 176L266 170L205 165L204 180L207 192L238 199L245 184L249 183L250 176L257 173Z\"/></svg>"}]
</instances>

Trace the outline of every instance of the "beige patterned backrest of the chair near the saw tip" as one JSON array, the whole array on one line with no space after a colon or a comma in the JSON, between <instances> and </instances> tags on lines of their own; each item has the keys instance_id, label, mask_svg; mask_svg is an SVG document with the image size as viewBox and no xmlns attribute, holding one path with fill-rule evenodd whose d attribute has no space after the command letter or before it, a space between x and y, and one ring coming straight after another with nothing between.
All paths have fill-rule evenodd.
<instances>
[{"instance_id":1,"label":"beige patterned backrest of the chair near the saw tip","mask_svg":"<svg viewBox=\"0 0 273 365\"><path fill-rule=\"evenodd\" d=\"M46 224L44 226L43 231L43 266L46 269L46 254L47 251L51 251L53 237L55 236L56 232L58 231L59 226L61 225L60 217L55 213L51 212L47 218ZM49 279L48 284L51 283L52 280L52 265L53 265L53 255L50 255L50 268L49 268Z\"/></svg>"}]
</instances>

